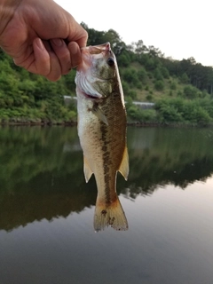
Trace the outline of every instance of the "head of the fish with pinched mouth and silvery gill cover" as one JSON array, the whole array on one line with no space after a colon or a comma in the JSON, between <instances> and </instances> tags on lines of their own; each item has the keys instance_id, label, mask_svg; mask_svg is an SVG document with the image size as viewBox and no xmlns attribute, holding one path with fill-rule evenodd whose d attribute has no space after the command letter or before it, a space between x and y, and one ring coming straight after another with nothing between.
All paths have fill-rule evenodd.
<instances>
[{"instance_id":1,"label":"head of the fish with pinched mouth and silvery gill cover","mask_svg":"<svg viewBox=\"0 0 213 284\"><path fill-rule=\"evenodd\" d=\"M110 43L82 48L82 63L75 77L77 92L88 99L105 98L116 82L116 58Z\"/></svg>"}]
</instances>

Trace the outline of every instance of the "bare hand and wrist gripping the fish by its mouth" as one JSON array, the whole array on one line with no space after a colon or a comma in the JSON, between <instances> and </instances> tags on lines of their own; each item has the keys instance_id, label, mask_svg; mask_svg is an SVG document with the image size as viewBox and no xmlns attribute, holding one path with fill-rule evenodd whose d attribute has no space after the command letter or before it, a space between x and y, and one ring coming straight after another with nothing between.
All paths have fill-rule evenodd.
<instances>
[{"instance_id":1,"label":"bare hand and wrist gripping the fish by its mouth","mask_svg":"<svg viewBox=\"0 0 213 284\"><path fill-rule=\"evenodd\" d=\"M52 0L0 0L0 47L29 72L57 81L81 63L87 32Z\"/></svg>"}]
</instances>

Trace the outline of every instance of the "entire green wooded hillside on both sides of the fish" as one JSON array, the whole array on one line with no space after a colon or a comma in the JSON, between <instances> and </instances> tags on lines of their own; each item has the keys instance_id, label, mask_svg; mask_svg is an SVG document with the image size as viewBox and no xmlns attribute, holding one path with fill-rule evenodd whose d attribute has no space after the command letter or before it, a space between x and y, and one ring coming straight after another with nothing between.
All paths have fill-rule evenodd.
<instances>
[{"instance_id":1,"label":"entire green wooded hillside on both sides of the fish","mask_svg":"<svg viewBox=\"0 0 213 284\"><path fill-rule=\"evenodd\" d=\"M193 58L165 58L162 51L153 45L146 47L142 40L127 45L114 29L105 32L84 23L82 26L89 34L88 45L111 43L130 122L213 122L212 67L204 67ZM0 122L76 122L75 104L66 106L65 95L75 95L75 70L52 83L15 66L0 50ZM153 101L155 108L142 111L132 104L134 99Z\"/></svg>"}]
</instances>

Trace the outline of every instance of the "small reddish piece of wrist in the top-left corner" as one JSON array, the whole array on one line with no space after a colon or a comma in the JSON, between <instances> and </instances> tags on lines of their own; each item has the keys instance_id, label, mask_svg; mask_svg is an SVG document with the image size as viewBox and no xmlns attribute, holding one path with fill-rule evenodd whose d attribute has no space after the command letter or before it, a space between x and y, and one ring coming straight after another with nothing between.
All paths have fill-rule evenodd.
<instances>
[{"instance_id":1,"label":"small reddish piece of wrist in the top-left corner","mask_svg":"<svg viewBox=\"0 0 213 284\"><path fill-rule=\"evenodd\" d=\"M1 35L14 15L21 0L0 0L0 44Z\"/></svg>"}]
</instances>

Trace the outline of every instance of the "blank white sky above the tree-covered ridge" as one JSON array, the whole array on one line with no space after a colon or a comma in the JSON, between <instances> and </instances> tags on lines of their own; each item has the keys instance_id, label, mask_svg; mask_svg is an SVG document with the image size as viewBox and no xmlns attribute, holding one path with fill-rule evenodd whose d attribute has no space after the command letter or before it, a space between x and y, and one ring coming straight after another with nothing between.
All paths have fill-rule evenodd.
<instances>
[{"instance_id":1,"label":"blank white sky above the tree-covered ridge","mask_svg":"<svg viewBox=\"0 0 213 284\"><path fill-rule=\"evenodd\" d=\"M55 0L79 23L113 28L126 44L142 39L173 59L213 66L212 0Z\"/></svg>"}]
</instances>

